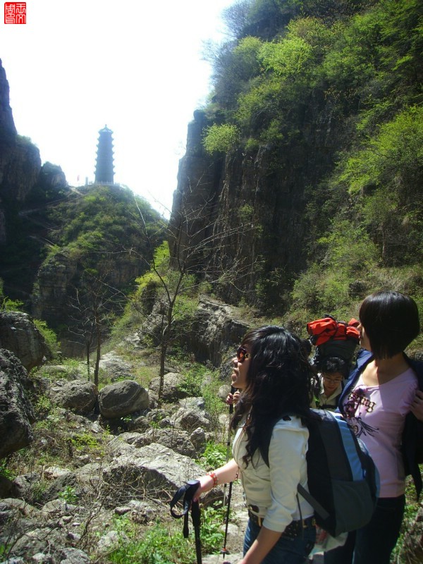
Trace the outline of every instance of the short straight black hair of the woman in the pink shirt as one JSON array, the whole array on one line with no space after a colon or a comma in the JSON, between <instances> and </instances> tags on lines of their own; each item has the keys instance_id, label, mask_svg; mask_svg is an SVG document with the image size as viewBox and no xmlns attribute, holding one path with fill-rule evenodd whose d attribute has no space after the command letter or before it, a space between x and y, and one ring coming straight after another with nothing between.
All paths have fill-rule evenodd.
<instances>
[{"instance_id":1,"label":"short straight black hair of the woman in the pink shirt","mask_svg":"<svg viewBox=\"0 0 423 564\"><path fill-rule=\"evenodd\" d=\"M379 359L402 353L420 332L415 300L393 290L381 290L364 298L359 317L372 353Z\"/></svg>"}]
</instances>

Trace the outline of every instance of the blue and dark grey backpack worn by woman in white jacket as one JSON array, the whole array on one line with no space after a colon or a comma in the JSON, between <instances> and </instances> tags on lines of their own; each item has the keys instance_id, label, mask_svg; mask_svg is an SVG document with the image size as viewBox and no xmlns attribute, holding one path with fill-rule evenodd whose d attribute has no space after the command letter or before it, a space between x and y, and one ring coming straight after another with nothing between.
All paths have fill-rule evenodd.
<instances>
[{"instance_id":1,"label":"blue and dark grey backpack worn by woman in white jacket","mask_svg":"<svg viewBox=\"0 0 423 564\"><path fill-rule=\"evenodd\" d=\"M337 537L367 525L379 497L379 472L341 414L311 410L307 424L307 491L298 494L314 509L317 525ZM264 460L269 465L269 460Z\"/></svg>"}]
</instances>

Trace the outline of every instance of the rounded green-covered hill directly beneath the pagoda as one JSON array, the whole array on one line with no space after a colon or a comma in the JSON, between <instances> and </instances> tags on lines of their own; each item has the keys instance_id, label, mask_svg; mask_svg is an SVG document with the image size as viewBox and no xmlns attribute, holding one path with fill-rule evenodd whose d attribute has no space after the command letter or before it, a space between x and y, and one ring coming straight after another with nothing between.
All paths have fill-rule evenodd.
<instances>
[{"instance_id":1,"label":"rounded green-covered hill directly beneath the pagoda","mask_svg":"<svg viewBox=\"0 0 423 564\"><path fill-rule=\"evenodd\" d=\"M163 240L159 214L133 192L94 185L44 209L50 226L32 313L58 333L67 355L97 350ZM96 376L98 366L96 367Z\"/></svg>"}]
</instances>

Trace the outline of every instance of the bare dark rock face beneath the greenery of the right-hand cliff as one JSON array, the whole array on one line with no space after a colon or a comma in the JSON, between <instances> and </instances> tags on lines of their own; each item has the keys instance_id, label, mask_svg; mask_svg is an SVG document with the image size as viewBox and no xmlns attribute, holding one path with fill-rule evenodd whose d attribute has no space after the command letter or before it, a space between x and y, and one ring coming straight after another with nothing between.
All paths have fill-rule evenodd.
<instances>
[{"instance_id":1,"label":"bare dark rock face beneath the greenery of the right-hand cliff","mask_svg":"<svg viewBox=\"0 0 423 564\"><path fill-rule=\"evenodd\" d=\"M317 111L316 106L310 104L309 111ZM231 283L216 285L225 300L236 302L244 296L260 305L265 295L268 304L283 309L293 276L305 268L305 189L317 185L333 164L343 128L334 123L329 105L318 119L304 115L303 121L314 125L304 125L289 150L261 145L217 158L204 152L202 140L210 125L204 113L195 112L188 126L171 226L176 233L183 219L191 223L180 229L182 243L186 231L196 233L197 240L209 238L212 252L203 259L203 269L215 280L223 271L230 273ZM173 252L178 254L175 245Z\"/></svg>"}]
</instances>

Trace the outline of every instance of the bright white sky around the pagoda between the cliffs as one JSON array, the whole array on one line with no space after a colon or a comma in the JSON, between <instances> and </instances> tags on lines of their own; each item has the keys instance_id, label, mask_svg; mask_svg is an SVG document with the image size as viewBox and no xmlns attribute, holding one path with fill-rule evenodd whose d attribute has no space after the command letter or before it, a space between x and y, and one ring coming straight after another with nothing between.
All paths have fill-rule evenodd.
<instances>
[{"instance_id":1,"label":"bright white sky around the pagoda between the cliffs","mask_svg":"<svg viewBox=\"0 0 423 564\"><path fill-rule=\"evenodd\" d=\"M115 182L168 216L188 123L210 91L202 40L223 39L221 11L233 2L27 0L26 24L1 14L18 133L76 186L94 180L107 125Z\"/></svg>"}]
</instances>

